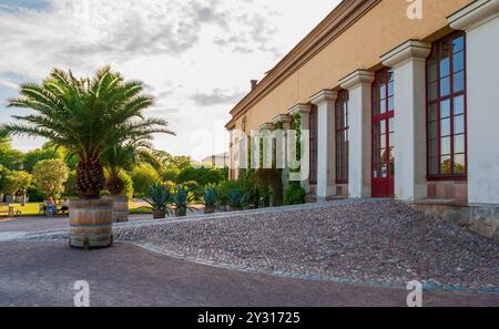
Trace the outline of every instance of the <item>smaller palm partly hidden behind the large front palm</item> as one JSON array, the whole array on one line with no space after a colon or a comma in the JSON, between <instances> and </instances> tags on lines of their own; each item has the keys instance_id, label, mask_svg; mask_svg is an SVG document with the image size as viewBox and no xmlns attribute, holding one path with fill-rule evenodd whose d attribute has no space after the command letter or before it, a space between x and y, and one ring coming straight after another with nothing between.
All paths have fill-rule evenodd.
<instances>
[{"instance_id":1,"label":"smaller palm partly hidden behind the large front palm","mask_svg":"<svg viewBox=\"0 0 499 329\"><path fill-rule=\"evenodd\" d=\"M146 163L155 169L162 164L153 155L151 135L113 145L103 154L102 163L106 171L106 188L111 195L120 195L124 189L123 171L131 171L139 163Z\"/></svg>"}]
</instances>

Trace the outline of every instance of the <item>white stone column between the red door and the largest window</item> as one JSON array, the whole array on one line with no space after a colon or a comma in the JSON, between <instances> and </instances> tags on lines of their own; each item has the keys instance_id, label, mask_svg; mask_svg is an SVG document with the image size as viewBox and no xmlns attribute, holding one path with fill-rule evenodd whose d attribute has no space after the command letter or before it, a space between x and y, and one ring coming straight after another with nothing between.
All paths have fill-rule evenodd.
<instances>
[{"instance_id":1,"label":"white stone column between the red door and the largest window","mask_svg":"<svg viewBox=\"0 0 499 329\"><path fill-rule=\"evenodd\" d=\"M383 55L394 69L395 197L427 197L426 181L426 58L431 44L415 40Z\"/></svg>"}]
</instances>

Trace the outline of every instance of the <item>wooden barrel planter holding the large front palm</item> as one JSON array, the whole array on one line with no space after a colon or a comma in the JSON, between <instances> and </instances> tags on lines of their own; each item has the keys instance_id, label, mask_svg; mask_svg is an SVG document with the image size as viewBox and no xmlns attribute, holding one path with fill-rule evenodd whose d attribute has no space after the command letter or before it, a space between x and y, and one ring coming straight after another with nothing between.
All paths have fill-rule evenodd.
<instances>
[{"instance_id":1,"label":"wooden barrel planter holding the large front palm","mask_svg":"<svg viewBox=\"0 0 499 329\"><path fill-rule=\"evenodd\" d=\"M113 201L70 201L70 247L101 248L113 244Z\"/></svg>"}]
</instances>

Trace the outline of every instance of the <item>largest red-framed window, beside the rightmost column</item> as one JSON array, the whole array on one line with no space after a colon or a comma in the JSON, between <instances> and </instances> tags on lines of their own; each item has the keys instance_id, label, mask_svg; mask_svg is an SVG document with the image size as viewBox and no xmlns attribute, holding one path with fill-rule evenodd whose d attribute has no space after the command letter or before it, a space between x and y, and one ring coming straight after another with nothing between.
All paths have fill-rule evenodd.
<instances>
[{"instance_id":1,"label":"largest red-framed window, beside the rightmost column","mask_svg":"<svg viewBox=\"0 0 499 329\"><path fill-rule=\"evenodd\" d=\"M427 60L428 179L466 179L466 35L432 45Z\"/></svg>"}]
</instances>

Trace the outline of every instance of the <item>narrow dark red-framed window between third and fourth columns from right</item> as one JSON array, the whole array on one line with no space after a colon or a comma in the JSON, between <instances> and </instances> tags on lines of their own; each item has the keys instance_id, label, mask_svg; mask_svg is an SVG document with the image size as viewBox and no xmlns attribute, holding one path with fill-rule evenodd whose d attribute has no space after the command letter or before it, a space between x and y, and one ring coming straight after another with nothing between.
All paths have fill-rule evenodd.
<instances>
[{"instance_id":1,"label":"narrow dark red-framed window between third and fourth columns from right","mask_svg":"<svg viewBox=\"0 0 499 329\"><path fill-rule=\"evenodd\" d=\"M336 183L348 183L348 91L338 92L336 100Z\"/></svg>"}]
</instances>

